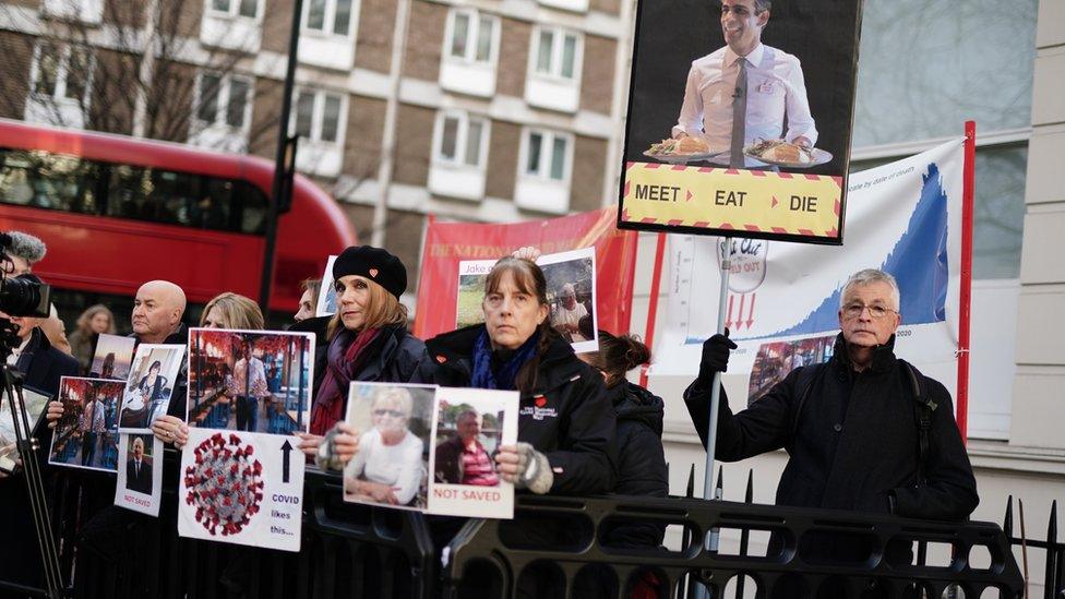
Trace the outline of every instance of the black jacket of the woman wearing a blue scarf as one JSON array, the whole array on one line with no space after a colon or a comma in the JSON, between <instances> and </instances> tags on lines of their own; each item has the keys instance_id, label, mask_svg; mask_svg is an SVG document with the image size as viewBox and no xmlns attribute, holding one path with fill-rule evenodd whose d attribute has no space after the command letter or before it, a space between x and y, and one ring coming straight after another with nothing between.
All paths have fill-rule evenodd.
<instances>
[{"instance_id":1,"label":"black jacket of the woman wearing a blue scarf","mask_svg":"<svg viewBox=\"0 0 1065 599\"><path fill-rule=\"evenodd\" d=\"M474 343L484 325L444 333L426 342L411 382L466 387ZM553 494L606 493L614 478L614 412L602 376L555 338L540 357L532 393L522 394L517 438L547 455Z\"/></svg>"}]
</instances>

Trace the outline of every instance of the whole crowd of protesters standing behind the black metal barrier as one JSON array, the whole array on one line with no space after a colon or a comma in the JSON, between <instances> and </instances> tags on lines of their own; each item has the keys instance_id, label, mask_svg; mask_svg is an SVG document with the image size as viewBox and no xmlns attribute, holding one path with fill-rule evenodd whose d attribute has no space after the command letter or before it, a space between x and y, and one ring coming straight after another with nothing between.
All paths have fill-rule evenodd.
<instances>
[{"instance_id":1,"label":"whole crowd of protesters standing behind the black metal barrier","mask_svg":"<svg viewBox=\"0 0 1065 599\"><path fill-rule=\"evenodd\" d=\"M8 276L39 281L31 271L33 263L44 257L44 244L25 233L13 237L19 243L13 264L7 265ZM600 331L598 351L575 354L564 334L552 326L546 278L535 262L538 255L536 249L523 248L501 256L486 280L483 323L428 340L408 331L407 309L399 301L407 287L407 272L402 261L384 249L351 247L338 255L332 272L337 311L332 316L313 315L316 296L323 290L316 280L304 281L300 303L294 307L299 310L297 322L290 330L316 335L310 427L309 432L297 433L299 448L308 459L323 469L340 470L359 452L364 436L344 422L351 382L515 390L520 396L518 441L499 446L487 469L487 454L476 454L474 457L480 459L478 476L499 476L518 490L539 494L668 495L661 443L665 404L626 380L630 371L650 361L650 351L634 337ZM907 387L892 352L899 323L898 287L889 275L863 273L845 286L839 347L831 364L812 383L800 384L799 374L793 373L769 392L769 400L756 402L737 415L722 399L718 457L742 459L788 447L791 460L780 484L781 504L964 519L976 507L976 483L953 428L949 396L942 385L922 378L941 409L934 414L933 455L917 455L916 433L907 420L913 410L909 403L897 400L907 395ZM134 297L131 336L137 344L187 344L188 330L182 323L186 306L186 295L178 285L145 283ZM87 372L95 340L100 334L113 333L117 324L108 307L93 306L77 319L68 344L56 318L9 320L20 339L9 363L25 374L26 384L52 395L61 376ZM46 326L49 321L50 326ZM262 330L264 320L254 301L223 292L207 303L200 325ZM704 346L699 375L684 395L704 438L714 374L727 369L734 347L727 335L710 337ZM155 436L178 450L189 435L186 378L181 372L175 382L175 400L167 414L152 423ZM248 400L248 393L237 390L234 395L237 409L242 409L240 402ZM47 420L51 426L62 411L61 403L49 404ZM875 421L883 431L885 420L899 422L888 428L896 434L894 439L882 439L881 433L871 436L865 430ZM845 434L838 434L839 422L846 427ZM824 427L828 432L822 430ZM37 434L47 436L49 432L43 428ZM881 443L896 450L878 467L879 459L871 458L867 452L843 455L854 443L855 447ZM456 442L454 459L462 459L465 446L476 448L476 444ZM928 468L920 464L925 459ZM460 462L456 471L457 464ZM849 478L837 475L843 469L850 472ZM876 476L863 476L860 484L854 483L853 475L859 471ZM17 506L26 499L23 486L15 484L13 478L17 477L0 474L0 513L8 520L11 514L25 512ZM20 518L23 524L27 519L15 519ZM438 539L456 530L454 520L436 524ZM549 532L529 530L530 535ZM660 526L630 523L613 530L607 542L654 548L662 543L663 532ZM17 534L33 536L32 529ZM12 543L0 546L10 548ZM9 572L13 563L23 568L23 574L33 571L0 555L0 579L14 575Z\"/></svg>"}]
</instances>

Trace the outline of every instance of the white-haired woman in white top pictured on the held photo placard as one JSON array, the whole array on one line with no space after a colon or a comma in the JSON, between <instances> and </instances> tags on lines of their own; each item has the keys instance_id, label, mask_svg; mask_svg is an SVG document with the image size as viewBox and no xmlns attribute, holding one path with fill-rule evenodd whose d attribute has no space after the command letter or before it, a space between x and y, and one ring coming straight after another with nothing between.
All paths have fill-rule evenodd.
<instances>
[{"instance_id":1,"label":"white-haired woman in white top pictured on the held photo placard","mask_svg":"<svg viewBox=\"0 0 1065 599\"><path fill-rule=\"evenodd\" d=\"M424 479L424 443L407 428L414 400L403 387L373 395L373 428L359 436L359 451L344 469L344 492L388 505L416 503Z\"/></svg>"}]
</instances>

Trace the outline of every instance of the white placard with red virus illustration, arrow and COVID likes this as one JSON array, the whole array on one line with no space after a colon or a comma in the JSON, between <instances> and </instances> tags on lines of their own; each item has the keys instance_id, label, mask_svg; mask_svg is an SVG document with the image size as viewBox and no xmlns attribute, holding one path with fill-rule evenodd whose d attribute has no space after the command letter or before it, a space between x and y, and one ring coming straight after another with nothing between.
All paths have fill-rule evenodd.
<instances>
[{"instance_id":1,"label":"white placard with red virus illustration, arrow and COVID likes this","mask_svg":"<svg viewBox=\"0 0 1065 599\"><path fill-rule=\"evenodd\" d=\"M299 551L303 466L290 436L190 429L181 454L178 534Z\"/></svg>"}]
</instances>

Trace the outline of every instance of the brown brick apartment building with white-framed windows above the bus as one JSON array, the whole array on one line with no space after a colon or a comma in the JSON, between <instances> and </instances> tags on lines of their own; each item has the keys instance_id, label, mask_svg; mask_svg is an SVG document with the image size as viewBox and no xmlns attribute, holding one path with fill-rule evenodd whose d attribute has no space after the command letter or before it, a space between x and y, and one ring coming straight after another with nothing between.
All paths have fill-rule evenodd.
<instances>
[{"instance_id":1,"label":"brown brick apartment building with white-framed windows above the bus","mask_svg":"<svg viewBox=\"0 0 1065 599\"><path fill-rule=\"evenodd\" d=\"M273 158L292 11L4 2L0 116ZM615 194L630 13L622 0L304 0L297 167L411 271L429 214L597 208Z\"/></svg>"}]
</instances>

